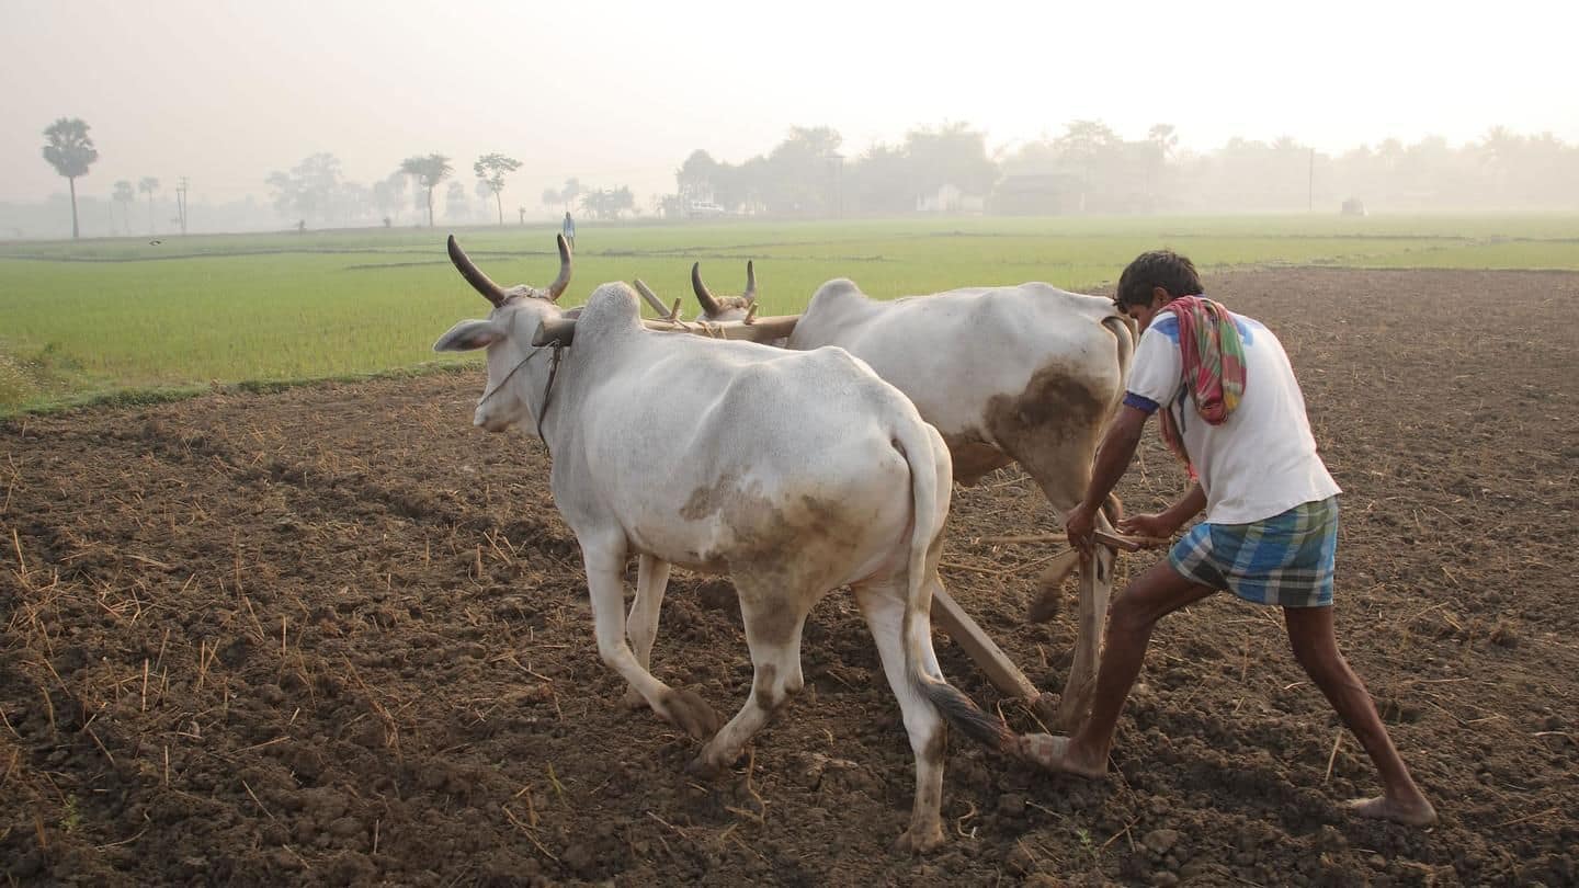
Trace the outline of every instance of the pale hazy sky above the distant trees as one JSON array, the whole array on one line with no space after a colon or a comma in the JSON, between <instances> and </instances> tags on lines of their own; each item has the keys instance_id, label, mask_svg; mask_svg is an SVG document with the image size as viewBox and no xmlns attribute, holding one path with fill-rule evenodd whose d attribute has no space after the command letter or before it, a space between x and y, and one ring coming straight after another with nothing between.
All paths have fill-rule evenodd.
<instances>
[{"instance_id":1,"label":"pale hazy sky above the distant trees","mask_svg":"<svg viewBox=\"0 0 1579 888\"><path fill-rule=\"evenodd\" d=\"M673 191L698 147L737 163L793 125L845 153L966 122L992 149L1101 119L1183 147L1322 150L1491 125L1579 142L1573 2L859 3L856 0L0 0L0 201L63 191L43 130L82 117L79 190L186 175L256 194L316 152L371 183L441 152L523 161L505 205L567 177ZM891 11L880 11L886 8Z\"/></svg>"}]
</instances>

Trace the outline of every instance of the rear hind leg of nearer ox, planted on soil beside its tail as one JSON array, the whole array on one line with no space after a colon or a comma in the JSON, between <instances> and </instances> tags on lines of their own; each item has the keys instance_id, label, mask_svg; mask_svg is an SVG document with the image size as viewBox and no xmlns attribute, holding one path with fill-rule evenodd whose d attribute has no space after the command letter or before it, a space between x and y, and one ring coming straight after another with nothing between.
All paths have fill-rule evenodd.
<instances>
[{"instance_id":1,"label":"rear hind leg of nearer ox, planted on soil beside its tail","mask_svg":"<svg viewBox=\"0 0 1579 888\"><path fill-rule=\"evenodd\" d=\"M936 591L936 589L933 589ZM943 844L943 758L947 727L938 709L910 678L905 662L905 580L865 583L854 588L856 604L867 618L872 638L883 657L883 673L898 700L905 717L905 733L916 757L916 801L910 811L910 828L894 842L902 852L928 852ZM943 675L932 649L932 632L922 634L922 662L917 672Z\"/></svg>"}]
</instances>

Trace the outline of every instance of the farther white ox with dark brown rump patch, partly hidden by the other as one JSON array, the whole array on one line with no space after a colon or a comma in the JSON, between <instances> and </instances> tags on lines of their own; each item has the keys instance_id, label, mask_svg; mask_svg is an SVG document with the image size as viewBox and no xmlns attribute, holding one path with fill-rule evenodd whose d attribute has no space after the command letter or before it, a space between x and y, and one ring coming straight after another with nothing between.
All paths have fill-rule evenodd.
<instances>
[{"instance_id":1,"label":"farther white ox with dark brown rump patch, partly hidden by the other","mask_svg":"<svg viewBox=\"0 0 1579 888\"><path fill-rule=\"evenodd\" d=\"M714 295L696 264L692 288L703 319L739 321L756 302L755 267L747 264L742 295ZM880 302L837 278L812 295L783 344L840 346L865 360L943 433L955 480L973 485L996 468L1020 463L1061 518L1085 496L1096 446L1124 393L1135 341L1112 300L1045 283ZM1110 507L1116 512L1116 499ZM1105 520L1099 517L1099 523ZM1044 574L1033 619L1056 610L1058 585L1075 559L1071 551ZM1097 547L1082 577L1074 665L1056 714L1064 728L1075 727L1096 692L1112 564L1112 550Z\"/></svg>"}]
</instances>

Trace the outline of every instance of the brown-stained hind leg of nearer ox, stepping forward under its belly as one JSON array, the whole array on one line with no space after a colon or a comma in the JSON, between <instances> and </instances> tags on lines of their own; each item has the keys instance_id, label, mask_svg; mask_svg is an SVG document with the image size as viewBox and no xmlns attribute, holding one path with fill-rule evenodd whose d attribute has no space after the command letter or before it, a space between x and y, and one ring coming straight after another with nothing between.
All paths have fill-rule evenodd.
<instances>
[{"instance_id":1,"label":"brown-stained hind leg of nearer ox, stepping forward under its belly","mask_svg":"<svg viewBox=\"0 0 1579 888\"><path fill-rule=\"evenodd\" d=\"M767 719L805 686L801 673L801 630L810 608L807 596L783 594L778 586L759 593L756 583L734 577L741 591L745 643L752 649L752 694L729 724L696 754L695 774L712 776L734 765L745 744Z\"/></svg>"}]
</instances>

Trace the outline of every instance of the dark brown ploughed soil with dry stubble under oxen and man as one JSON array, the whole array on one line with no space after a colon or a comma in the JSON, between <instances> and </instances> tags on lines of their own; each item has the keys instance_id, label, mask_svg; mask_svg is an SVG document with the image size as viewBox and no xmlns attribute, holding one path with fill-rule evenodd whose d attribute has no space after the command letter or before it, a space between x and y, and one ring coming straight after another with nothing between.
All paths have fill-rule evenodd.
<instances>
[{"instance_id":1,"label":"dark brown ploughed soil with dry stubble under oxen and man","mask_svg":"<svg viewBox=\"0 0 1579 888\"><path fill-rule=\"evenodd\" d=\"M1115 774L951 744L911 858L911 754L848 597L807 692L715 784L621 705L542 447L471 428L480 373L0 427L0 871L13 883L1566 885L1579 880L1579 275L1211 281L1287 343L1345 488L1339 637L1442 823L1377 792L1287 651L1216 596L1159 627ZM431 337L437 330L417 330ZM1181 487L1148 441L1132 509ZM958 490L946 580L1045 689L1050 529L1014 471ZM1151 555L1131 558L1143 567ZM1123 577L1121 577L1123 580ZM941 645L944 670L1000 698ZM729 586L677 575L655 672L718 711ZM1004 702L1022 730L1030 713ZM1336 752L1334 752L1336 751Z\"/></svg>"}]
</instances>

